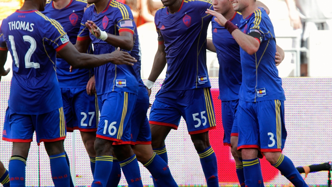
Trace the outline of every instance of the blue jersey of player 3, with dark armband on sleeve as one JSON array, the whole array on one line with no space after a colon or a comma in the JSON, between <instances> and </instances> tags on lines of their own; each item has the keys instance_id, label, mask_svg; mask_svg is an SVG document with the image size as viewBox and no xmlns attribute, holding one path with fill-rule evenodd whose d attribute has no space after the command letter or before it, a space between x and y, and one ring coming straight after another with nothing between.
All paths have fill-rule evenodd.
<instances>
[{"instance_id":1,"label":"blue jersey of player 3, with dark armband on sleeve","mask_svg":"<svg viewBox=\"0 0 332 187\"><path fill-rule=\"evenodd\" d=\"M241 20L239 29L260 41L258 51L249 55L240 48L242 84L239 98L247 102L285 100L282 80L275 64L276 39L273 25L264 9Z\"/></svg>"}]
</instances>

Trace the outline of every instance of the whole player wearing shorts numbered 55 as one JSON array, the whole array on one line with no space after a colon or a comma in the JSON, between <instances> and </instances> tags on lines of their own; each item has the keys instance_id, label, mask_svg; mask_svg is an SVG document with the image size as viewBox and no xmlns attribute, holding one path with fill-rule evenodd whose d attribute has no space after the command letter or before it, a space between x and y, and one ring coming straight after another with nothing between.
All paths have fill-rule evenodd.
<instances>
[{"instance_id":1,"label":"whole player wearing shorts numbered 55","mask_svg":"<svg viewBox=\"0 0 332 187\"><path fill-rule=\"evenodd\" d=\"M167 162L165 138L177 129L180 118L199 154L208 187L218 186L217 159L208 131L216 128L206 64L210 1L162 0L155 14L158 50L145 85L153 87L167 63L164 83L150 112L152 147Z\"/></svg>"}]
</instances>

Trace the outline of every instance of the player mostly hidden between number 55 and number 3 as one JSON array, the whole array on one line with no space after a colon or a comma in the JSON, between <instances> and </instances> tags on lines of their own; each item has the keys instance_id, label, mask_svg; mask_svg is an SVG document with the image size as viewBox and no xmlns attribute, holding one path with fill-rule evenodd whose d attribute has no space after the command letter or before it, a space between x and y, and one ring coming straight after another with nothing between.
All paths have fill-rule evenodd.
<instances>
[{"instance_id":1,"label":"player mostly hidden between number 55 and number 3","mask_svg":"<svg viewBox=\"0 0 332 187\"><path fill-rule=\"evenodd\" d=\"M222 14L234 25L240 25L242 15L234 12L232 3L229 0L212 0L213 9ZM260 1L257 6L268 8ZM242 69L240 59L240 47L231 34L214 19L212 19L212 40L207 39L207 49L217 53L219 61L219 99L221 100L222 126L224 128L224 145L230 146L231 153L236 164L236 173L241 186L244 186L244 173L241 152L237 151L238 130L236 107L239 102L239 90L242 82ZM278 65L283 56L280 48L276 52L275 62ZM262 181L262 186L264 183Z\"/></svg>"}]
</instances>

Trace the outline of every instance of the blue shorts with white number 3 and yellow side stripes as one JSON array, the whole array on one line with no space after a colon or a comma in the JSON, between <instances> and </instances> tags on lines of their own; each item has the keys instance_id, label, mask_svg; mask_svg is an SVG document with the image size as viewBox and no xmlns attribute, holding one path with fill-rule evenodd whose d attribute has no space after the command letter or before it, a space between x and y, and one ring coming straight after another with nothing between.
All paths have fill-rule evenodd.
<instances>
[{"instance_id":1,"label":"blue shorts with white number 3 and yellow side stripes","mask_svg":"<svg viewBox=\"0 0 332 187\"><path fill-rule=\"evenodd\" d=\"M237 149L257 148L261 152L281 152L287 132L284 101L245 102L237 107L239 141Z\"/></svg>"}]
</instances>

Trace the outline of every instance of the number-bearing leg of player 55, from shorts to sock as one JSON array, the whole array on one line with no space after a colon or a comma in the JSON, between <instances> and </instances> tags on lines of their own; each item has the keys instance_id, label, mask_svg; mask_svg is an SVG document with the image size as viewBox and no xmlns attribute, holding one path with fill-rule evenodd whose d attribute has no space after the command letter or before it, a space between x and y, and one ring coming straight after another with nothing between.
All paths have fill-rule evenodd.
<instances>
[{"instance_id":1,"label":"number-bearing leg of player 55, from shorts to sock","mask_svg":"<svg viewBox=\"0 0 332 187\"><path fill-rule=\"evenodd\" d=\"M188 132L197 150L208 187L219 186L217 158L210 145L208 131L216 128L209 88L182 91L178 99Z\"/></svg>"}]
</instances>

